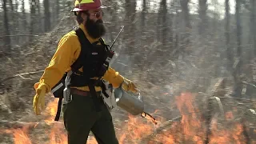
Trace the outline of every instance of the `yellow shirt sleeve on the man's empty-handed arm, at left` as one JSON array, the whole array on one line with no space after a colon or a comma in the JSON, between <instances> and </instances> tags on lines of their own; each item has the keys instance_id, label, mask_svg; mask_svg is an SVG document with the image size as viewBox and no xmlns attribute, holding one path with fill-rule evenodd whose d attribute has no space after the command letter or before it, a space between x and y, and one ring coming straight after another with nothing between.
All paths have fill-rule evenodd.
<instances>
[{"instance_id":1,"label":"yellow shirt sleeve on the man's empty-handed arm, at left","mask_svg":"<svg viewBox=\"0 0 256 144\"><path fill-rule=\"evenodd\" d=\"M42 74L38 87L44 85L46 92L50 92L50 89L59 82L67 70L70 70L71 64L78 58L81 51L79 47L78 38L75 34L64 36L58 43L58 49L50 60L49 66Z\"/></svg>"}]
</instances>

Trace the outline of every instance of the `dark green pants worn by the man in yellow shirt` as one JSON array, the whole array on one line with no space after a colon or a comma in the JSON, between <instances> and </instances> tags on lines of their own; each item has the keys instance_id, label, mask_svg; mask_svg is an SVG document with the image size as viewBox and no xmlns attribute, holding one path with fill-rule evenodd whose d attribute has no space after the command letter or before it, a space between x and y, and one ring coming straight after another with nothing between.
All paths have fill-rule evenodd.
<instances>
[{"instance_id":1,"label":"dark green pants worn by the man in yellow shirt","mask_svg":"<svg viewBox=\"0 0 256 144\"><path fill-rule=\"evenodd\" d=\"M110 111L102 100L99 106L101 111L96 112L91 96L76 94L71 102L63 105L69 144L85 144L90 130L99 144L118 144Z\"/></svg>"}]
</instances>

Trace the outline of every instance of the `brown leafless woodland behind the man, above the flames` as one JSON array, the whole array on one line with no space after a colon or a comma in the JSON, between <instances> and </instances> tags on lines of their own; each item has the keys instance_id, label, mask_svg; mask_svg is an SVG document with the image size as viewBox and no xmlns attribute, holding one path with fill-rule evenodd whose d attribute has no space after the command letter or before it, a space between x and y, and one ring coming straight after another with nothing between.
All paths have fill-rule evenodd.
<instances>
[{"instance_id":1,"label":"brown leafless woodland behind the man, above the flames","mask_svg":"<svg viewBox=\"0 0 256 144\"><path fill-rule=\"evenodd\" d=\"M32 111L34 83L58 40L78 26L70 13L73 4L1 0L2 127L7 121L42 118ZM125 26L114 44L117 54L111 66L138 84L150 113L161 110L155 115L166 119L180 115L174 96L184 92L198 94L196 98L203 101L199 104L205 105L210 87L219 78L223 90L218 97L236 99L246 107L242 111L256 109L255 0L111 0L103 4L107 6L106 42L113 42ZM114 117L127 118L122 110ZM0 135L2 143L11 143L10 139Z\"/></svg>"}]
</instances>

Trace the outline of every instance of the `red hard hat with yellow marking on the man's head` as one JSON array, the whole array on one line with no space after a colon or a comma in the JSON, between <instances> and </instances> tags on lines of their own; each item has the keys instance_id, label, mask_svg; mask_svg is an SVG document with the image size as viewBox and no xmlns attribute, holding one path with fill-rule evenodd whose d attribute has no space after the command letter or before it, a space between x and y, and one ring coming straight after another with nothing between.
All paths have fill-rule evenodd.
<instances>
[{"instance_id":1,"label":"red hard hat with yellow marking on the man's head","mask_svg":"<svg viewBox=\"0 0 256 144\"><path fill-rule=\"evenodd\" d=\"M71 12L83 11L83 10L98 10L102 9L101 0L75 0L74 9Z\"/></svg>"}]
</instances>

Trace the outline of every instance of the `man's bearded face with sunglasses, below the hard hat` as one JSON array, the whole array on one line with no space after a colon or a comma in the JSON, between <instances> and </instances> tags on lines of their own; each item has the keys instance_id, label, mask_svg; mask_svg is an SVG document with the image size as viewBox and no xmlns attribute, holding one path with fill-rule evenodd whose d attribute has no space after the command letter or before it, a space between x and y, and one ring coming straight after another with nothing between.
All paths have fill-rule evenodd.
<instances>
[{"instance_id":1,"label":"man's bearded face with sunglasses, below the hard hat","mask_svg":"<svg viewBox=\"0 0 256 144\"><path fill-rule=\"evenodd\" d=\"M86 30L92 38L100 38L106 34L106 27L102 21L102 10L89 10L86 19Z\"/></svg>"}]
</instances>

